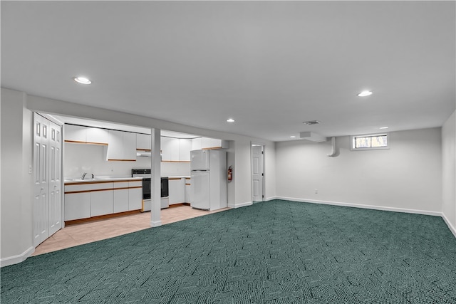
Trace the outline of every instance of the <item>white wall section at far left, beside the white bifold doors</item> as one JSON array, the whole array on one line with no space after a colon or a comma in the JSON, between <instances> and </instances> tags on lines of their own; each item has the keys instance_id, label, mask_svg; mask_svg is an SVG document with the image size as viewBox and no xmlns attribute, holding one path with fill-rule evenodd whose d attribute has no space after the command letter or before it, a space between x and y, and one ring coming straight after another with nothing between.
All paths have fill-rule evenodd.
<instances>
[{"instance_id":1,"label":"white wall section at far left, beside the white bifold doors","mask_svg":"<svg viewBox=\"0 0 456 304\"><path fill-rule=\"evenodd\" d=\"M1 89L1 266L33 253L31 175L32 115L26 95Z\"/></svg>"}]
</instances>

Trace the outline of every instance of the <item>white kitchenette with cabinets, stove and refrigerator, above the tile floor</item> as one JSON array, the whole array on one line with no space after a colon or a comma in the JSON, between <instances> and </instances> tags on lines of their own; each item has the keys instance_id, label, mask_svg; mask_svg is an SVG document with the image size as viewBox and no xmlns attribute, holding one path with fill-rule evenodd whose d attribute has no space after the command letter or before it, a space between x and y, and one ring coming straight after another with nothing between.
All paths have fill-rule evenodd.
<instances>
[{"instance_id":1,"label":"white kitchenette with cabinets, stove and refrigerator, above the tile floor","mask_svg":"<svg viewBox=\"0 0 456 304\"><path fill-rule=\"evenodd\" d=\"M65 122L66 225L150 211L150 129L56 118ZM161 209L227 207L224 141L162 130L160 143Z\"/></svg>"}]
</instances>

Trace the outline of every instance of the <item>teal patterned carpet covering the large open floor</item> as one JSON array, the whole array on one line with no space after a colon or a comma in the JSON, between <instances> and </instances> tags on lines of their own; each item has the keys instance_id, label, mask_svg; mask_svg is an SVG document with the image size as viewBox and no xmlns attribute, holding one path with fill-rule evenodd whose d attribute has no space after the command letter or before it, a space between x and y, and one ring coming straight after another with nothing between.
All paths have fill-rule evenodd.
<instances>
[{"instance_id":1,"label":"teal patterned carpet covering the large open floor","mask_svg":"<svg viewBox=\"0 0 456 304\"><path fill-rule=\"evenodd\" d=\"M1 303L456 303L438 216L274 200L1 268Z\"/></svg>"}]
</instances>

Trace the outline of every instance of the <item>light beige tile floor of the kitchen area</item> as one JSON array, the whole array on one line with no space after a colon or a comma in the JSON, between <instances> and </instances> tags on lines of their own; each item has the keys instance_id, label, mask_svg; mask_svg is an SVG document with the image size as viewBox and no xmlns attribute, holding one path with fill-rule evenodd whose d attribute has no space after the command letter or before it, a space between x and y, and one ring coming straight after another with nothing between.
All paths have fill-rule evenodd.
<instances>
[{"instance_id":1,"label":"light beige tile floor of the kitchen area","mask_svg":"<svg viewBox=\"0 0 456 304\"><path fill-rule=\"evenodd\" d=\"M204 211L193 209L190 206L177 206L168 209L162 209L160 219L162 225L191 219L197 216L204 216L219 211L225 211L229 208ZM150 228L150 212L143 212L128 216L120 216L113 219L102 219L84 224L73 224L53 234L50 238L43 241L35 248L32 256L61 250L68 247L100 241L103 239L113 238L123 234Z\"/></svg>"}]
</instances>

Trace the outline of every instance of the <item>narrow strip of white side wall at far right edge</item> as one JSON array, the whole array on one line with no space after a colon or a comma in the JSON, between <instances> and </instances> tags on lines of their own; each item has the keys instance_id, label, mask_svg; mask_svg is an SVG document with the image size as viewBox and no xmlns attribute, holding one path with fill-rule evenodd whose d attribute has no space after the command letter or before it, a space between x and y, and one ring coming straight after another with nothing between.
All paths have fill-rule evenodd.
<instances>
[{"instance_id":1,"label":"narrow strip of white side wall at far right edge","mask_svg":"<svg viewBox=\"0 0 456 304\"><path fill-rule=\"evenodd\" d=\"M442 127L442 214L456 236L456 112Z\"/></svg>"}]
</instances>

